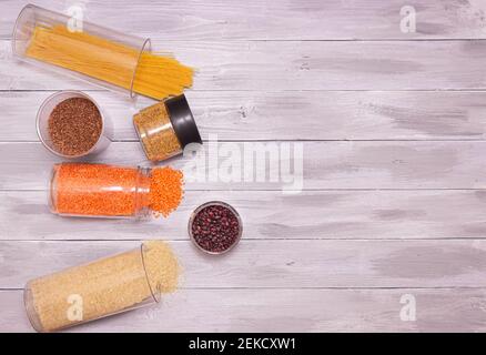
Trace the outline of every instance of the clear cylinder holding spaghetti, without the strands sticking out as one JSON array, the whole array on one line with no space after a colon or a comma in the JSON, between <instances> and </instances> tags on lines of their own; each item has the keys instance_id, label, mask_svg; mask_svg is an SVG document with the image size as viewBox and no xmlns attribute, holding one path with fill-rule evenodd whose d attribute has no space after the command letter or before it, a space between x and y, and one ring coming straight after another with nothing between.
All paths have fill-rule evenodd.
<instances>
[{"instance_id":1,"label":"clear cylinder holding spaghetti, without the strands sticking out","mask_svg":"<svg viewBox=\"0 0 486 355\"><path fill-rule=\"evenodd\" d=\"M67 36L73 32L82 34L78 38ZM105 44L107 41L111 44ZM39 45L32 47L32 43ZM121 91L131 98L135 97L133 83L141 54L150 50L150 39L87 21L82 21L82 29L79 29L73 18L34 4L21 10L12 33L16 58ZM107 72L107 68L111 70Z\"/></svg>"}]
</instances>

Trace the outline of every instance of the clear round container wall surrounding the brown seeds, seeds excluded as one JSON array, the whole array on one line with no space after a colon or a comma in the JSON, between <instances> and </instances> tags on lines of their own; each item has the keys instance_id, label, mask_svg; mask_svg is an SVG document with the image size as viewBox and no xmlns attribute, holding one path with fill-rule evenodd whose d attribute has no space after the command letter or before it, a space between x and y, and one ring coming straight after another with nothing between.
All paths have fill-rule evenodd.
<instances>
[{"instance_id":1,"label":"clear round container wall surrounding the brown seeds, seeds excluded","mask_svg":"<svg viewBox=\"0 0 486 355\"><path fill-rule=\"evenodd\" d=\"M102 126L97 143L94 143L90 150L78 155L65 155L58 152L52 145L52 140L49 134L49 118L52 111L59 103L71 98L82 98L91 101L97 106L98 111L101 114ZM58 91L52 95L50 95L49 98L47 98L44 102L41 104L41 106L39 108L39 111L37 113L36 125L37 125L37 134L39 135L39 140L42 142L42 145L52 154L55 154L64 159L77 159L81 156L87 156L89 154L100 153L103 150L105 150L108 145L110 145L112 138L111 121L107 118L107 115L103 113L101 108L90 95L85 94L82 91L77 91L77 90Z\"/></svg>"}]
</instances>

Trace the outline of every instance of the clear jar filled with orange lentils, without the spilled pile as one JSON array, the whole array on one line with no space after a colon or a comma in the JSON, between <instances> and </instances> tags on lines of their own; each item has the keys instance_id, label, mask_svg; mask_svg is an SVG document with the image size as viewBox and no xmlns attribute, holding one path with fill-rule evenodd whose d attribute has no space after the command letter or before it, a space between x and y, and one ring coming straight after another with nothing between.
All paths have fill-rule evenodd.
<instances>
[{"instance_id":1,"label":"clear jar filled with orange lentils, without the spilled pile","mask_svg":"<svg viewBox=\"0 0 486 355\"><path fill-rule=\"evenodd\" d=\"M151 172L150 168L55 164L49 189L51 212L70 216L149 217Z\"/></svg>"}]
</instances>

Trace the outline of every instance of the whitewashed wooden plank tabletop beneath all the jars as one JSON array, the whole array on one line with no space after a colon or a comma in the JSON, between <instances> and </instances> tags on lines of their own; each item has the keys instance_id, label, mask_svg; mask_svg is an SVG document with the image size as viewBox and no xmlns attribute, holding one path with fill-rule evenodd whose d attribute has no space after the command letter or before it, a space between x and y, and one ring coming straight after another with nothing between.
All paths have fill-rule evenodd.
<instances>
[{"instance_id":1,"label":"whitewashed wooden plank tabletop beneath all the jars","mask_svg":"<svg viewBox=\"0 0 486 355\"><path fill-rule=\"evenodd\" d=\"M302 143L304 191L189 183L165 221L50 214L45 186L59 160L38 141L40 103L85 90L115 125L97 161L146 164L131 115L151 101L130 104L12 60L24 1L1 0L0 331L32 331L29 278L145 239L173 245L181 288L158 307L72 331L486 329L485 1L37 1L58 11L79 3L87 20L150 37L199 69L186 97L204 140ZM401 29L404 6L415 7L416 32ZM220 199L240 211L244 239L204 257L188 217ZM411 300L415 321L401 317Z\"/></svg>"}]
</instances>

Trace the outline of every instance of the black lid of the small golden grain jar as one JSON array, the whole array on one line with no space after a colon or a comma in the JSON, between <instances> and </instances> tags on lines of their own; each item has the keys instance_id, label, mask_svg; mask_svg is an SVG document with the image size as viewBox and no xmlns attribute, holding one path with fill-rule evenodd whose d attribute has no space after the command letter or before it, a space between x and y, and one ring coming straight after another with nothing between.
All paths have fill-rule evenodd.
<instances>
[{"instance_id":1,"label":"black lid of the small golden grain jar","mask_svg":"<svg viewBox=\"0 0 486 355\"><path fill-rule=\"evenodd\" d=\"M185 95L179 95L165 100L165 108L169 112L169 118L174 129L175 135L179 139L182 148L190 143L202 144L201 135L198 131L194 116L189 108Z\"/></svg>"}]
</instances>

